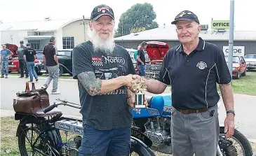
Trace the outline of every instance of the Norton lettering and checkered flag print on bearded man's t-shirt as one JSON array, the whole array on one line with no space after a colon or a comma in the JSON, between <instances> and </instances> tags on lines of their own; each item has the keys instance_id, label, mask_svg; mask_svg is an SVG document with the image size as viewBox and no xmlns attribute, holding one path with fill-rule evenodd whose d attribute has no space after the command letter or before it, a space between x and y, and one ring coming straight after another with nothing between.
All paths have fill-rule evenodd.
<instances>
[{"instance_id":1,"label":"Norton lettering and checkered flag print on bearded man's t-shirt","mask_svg":"<svg viewBox=\"0 0 256 156\"><path fill-rule=\"evenodd\" d=\"M119 63L119 64L125 64L126 60L123 59L123 57L92 57L92 61L93 61L93 66L103 66L103 63L105 64L115 64L115 63Z\"/></svg>"}]
</instances>

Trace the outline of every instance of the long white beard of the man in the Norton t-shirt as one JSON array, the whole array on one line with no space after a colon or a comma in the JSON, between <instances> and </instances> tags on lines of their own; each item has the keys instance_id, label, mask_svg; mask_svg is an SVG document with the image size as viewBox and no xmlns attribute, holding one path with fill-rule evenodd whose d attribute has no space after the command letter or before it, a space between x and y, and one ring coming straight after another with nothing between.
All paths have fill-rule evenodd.
<instances>
[{"instance_id":1,"label":"long white beard of the man in the Norton t-shirt","mask_svg":"<svg viewBox=\"0 0 256 156\"><path fill-rule=\"evenodd\" d=\"M95 52L102 51L102 52L105 52L105 54L107 54L107 55L113 54L113 50L115 47L114 29L110 33L110 36L109 36L109 38L107 38L107 40L102 40L99 36L99 33L97 33L94 28L93 28L93 30L90 30L90 27L88 27L87 32L88 32L88 36L92 40L93 48L94 48Z\"/></svg>"}]
</instances>

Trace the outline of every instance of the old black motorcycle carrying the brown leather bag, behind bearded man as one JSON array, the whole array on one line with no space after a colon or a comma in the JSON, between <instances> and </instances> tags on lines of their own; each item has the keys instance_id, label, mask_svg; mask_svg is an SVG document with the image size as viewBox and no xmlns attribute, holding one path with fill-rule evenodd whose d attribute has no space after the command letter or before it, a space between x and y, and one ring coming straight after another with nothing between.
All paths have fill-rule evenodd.
<instances>
[{"instance_id":1,"label":"old black motorcycle carrying the brown leather bag, behind bearded man","mask_svg":"<svg viewBox=\"0 0 256 156\"><path fill-rule=\"evenodd\" d=\"M15 113L15 120L20 120L16 136L20 155L44 156L77 156L83 135L81 120L62 117L57 106L81 108L78 104L58 99L48 107L41 108L34 114ZM65 132L63 139L60 130ZM68 132L72 136L67 136ZM142 132L134 127L131 129L130 155L154 156L150 149L152 142ZM63 135L63 134L62 134ZM66 141L65 141L66 140Z\"/></svg>"}]
</instances>

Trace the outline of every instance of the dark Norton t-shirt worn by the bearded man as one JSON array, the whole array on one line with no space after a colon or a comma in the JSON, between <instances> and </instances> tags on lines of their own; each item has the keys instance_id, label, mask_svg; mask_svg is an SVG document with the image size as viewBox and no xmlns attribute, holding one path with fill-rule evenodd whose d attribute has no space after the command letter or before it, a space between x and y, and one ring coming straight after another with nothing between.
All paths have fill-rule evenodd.
<instances>
[{"instance_id":1,"label":"dark Norton t-shirt worn by the bearded man","mask_svg":"<svg viewBox=\"0 0 256 156\"><path fill-rule=\"evenodd\" d=\"M77 79L77 75L85 71L93 71L96 78L102 80L135 74L126 49L116 45L113 54L106 55L95 52L90 41L77 45L73 50L73 77ZM122 86L108 94L90 96L79 80L78 85L84 124L101 130L131 125L133 115L126 101L126 87Z\"/></svg>"}]
</instances>

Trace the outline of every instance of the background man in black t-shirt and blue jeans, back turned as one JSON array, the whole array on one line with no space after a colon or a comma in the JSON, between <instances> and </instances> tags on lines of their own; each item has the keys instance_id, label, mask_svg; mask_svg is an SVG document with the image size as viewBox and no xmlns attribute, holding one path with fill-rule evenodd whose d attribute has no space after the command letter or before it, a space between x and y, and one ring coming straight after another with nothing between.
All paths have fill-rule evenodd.
<instances>
[{"instance_id":1,"label":"background man in black t-shirt and blue jeans, back turned","mask_svg":"<svg viewBox=\"0 0 256 156\"><path fill-rule=\"evenodd\" d=\"M36 71L34 71L34 59L36 59L36 51L30 47L30 43L27 43L26 46L27 48L24 50L24 60L27 64L27 71L29 71L29 82L33 82L33 75L34 78L36 78L36 81L38 81L38 76Z\"/></svg>"}]
</instances>

